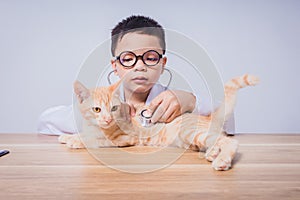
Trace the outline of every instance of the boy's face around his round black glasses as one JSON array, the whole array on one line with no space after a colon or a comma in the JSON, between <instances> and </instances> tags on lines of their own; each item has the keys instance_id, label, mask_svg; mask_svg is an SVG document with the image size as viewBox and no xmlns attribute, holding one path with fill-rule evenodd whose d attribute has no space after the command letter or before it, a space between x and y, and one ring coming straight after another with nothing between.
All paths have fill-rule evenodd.
<instances>
[{"instance_id":1,"label":"boy's face around his round black glasses","mask_svg":"<svg viewBox=\"0 0 300 200\"><path fill-rule=\"evenodd\" d=\"M125 34L119 40L115 55L119 56L122 52L131 51L139 56L149 50L155 50L159 54L163 53L159 39L155 36L133 32ZM131 68L125 68L119 60L112 60L111 63L115 73L123 79L125 90L131 93L147 93L158 81L166 61L166 57L163 57L156 65L147 66L142 58L138 58Z\"/></svg>"}]
</instances>

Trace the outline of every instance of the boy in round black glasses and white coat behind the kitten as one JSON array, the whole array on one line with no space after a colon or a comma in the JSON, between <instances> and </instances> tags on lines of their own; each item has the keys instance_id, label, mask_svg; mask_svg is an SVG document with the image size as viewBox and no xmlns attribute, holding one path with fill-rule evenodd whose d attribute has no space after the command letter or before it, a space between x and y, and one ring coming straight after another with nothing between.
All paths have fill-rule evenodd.
<instances>
[{"instance_id":1,"label":"boy in round black glasses and white coat behind the kitten","mask_svg":"<svg viewBox=\"0 0 300 200\"><path fill-rule=\"evenodd\" d=\"M165 34L161 25L144 16L131 16L112 30L111 65L115 75L122 78L121 98L130 105L150 104L151 122L172 121L185 112L193 112L196 98L192 93L167 90L156 84L163 73L167 58ZM38 131L47 134L76 133L73 109L55 107L40 117ZM230 129L233 129L230 127Z\"/></svg>"}]
</instances>

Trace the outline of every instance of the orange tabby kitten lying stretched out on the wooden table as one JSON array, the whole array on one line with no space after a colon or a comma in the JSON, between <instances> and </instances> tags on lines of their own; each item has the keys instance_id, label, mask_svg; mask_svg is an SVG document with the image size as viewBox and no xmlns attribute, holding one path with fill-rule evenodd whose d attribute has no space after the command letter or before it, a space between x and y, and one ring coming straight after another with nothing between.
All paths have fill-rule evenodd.
<instances>
[{"instance_id":1,"label":"orange tabby kitten lying stretched out on the wooden table","mask_svg":"<svg viewBox=\"0 0 300 200\"><path fill-rule=\"evenodd\" d=\"M120 82L109 87L88 90L76 81L74 90L80 112L88 123L86 127L92 129L84 130L83 132L89 134L86 134L86 137L83 134L81 139L88 147L141 145L207 150L205 157L212 161L214 169L228 170L236 154L238 141L226 137L222 127L233 112L238 89L257 83L258 78L251 75L230 80L225 84L225 100L209 116L185 113L170 123L156 123L150 127L143 127L139 115L133 118L126 118L127 115L124 115L128 105L120 101ZM137 113L145 108L140 106ZM70 148L84 148L78 135L63 134L59 141L66 143Z\"/></svg>"}]
</instances>

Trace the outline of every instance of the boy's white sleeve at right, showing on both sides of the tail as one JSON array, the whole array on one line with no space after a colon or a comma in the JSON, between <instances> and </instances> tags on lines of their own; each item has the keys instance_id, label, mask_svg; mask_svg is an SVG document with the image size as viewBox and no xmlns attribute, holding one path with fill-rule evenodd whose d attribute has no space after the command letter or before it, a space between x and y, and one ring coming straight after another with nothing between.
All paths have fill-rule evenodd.
<instances>
[{"instance_id":1,"label":"boy's white sleeve at right, showing on both sides of the tail","mask_svg":"<svg viewBox=\"0 0 300 200\"><path fill-rule=\"evenodd\" d=\"M210 98L206 97L205 95L203 95L202 98L196 95L196 99L196 107L193 113L207 116L213 110L215 110L216 107L212 105ZM235 134L234 113L232 113L228 120L224 123L223 128L226 133Z\"/></svg>"}]
</instances>

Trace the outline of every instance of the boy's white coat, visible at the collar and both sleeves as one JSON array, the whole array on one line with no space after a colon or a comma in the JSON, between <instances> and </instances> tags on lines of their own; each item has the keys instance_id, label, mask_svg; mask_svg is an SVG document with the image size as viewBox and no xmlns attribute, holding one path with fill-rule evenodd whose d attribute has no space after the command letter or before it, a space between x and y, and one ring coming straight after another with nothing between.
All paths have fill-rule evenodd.
<instances>
[{"instance_id":1,"label":"boy's white coat, visible at the collar and both sleeves","mask_svg":"<svg viewBox=\"0 0 300 200\"><path fill-rule=\"evenodd\" d=\"M166 87L155 84L146 100L146 105L149 105L150 102L158 96L161 92L167 90ZM120 91L124 91L123 87L120 87ZM120 98L125 101L124 92L120 92ZM198 98L197 98L198 99ZM208 106L205 106L205 103L202 102L202 106L199 106L195 109L194 113L197 114L207 114ZM80 127L76 126L74 119L74 110L73 105L68 106L55 106L45 110L38 120L38 132L43 134L50 135L61 135L62 133L77 133L77 130L80 131ZM77 120L77 119L76 119ZM235 124L234 116L232 115L229 120L224 124L224 129L227 133L234 134Z\"/></svg>"}]
</instances>

